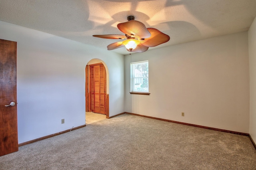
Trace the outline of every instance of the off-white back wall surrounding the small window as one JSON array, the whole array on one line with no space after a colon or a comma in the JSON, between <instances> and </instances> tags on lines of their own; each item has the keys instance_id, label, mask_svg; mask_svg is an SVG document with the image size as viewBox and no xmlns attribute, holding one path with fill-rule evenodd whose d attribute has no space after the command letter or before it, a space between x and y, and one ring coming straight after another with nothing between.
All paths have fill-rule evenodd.
<instances>
[{"instance_id":1,"label":"off-white back wall surrounding the small window","mask_svg":"<svg viewBox=\"0 0 256 170\"><path fill-rule=\"evenodd\" d=\"M125 111L249 133L247 32L132 54L132 62L145 60L151 94L131 95L125 56Z\"/></svg>"}]
</instances>

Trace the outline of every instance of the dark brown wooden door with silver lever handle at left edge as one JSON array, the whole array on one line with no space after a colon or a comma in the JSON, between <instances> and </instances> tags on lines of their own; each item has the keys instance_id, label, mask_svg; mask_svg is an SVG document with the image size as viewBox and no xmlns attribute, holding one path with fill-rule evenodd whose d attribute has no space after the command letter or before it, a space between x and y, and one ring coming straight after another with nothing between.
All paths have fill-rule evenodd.
<instances>
[{"instance_id":1,"label":"dark brown wooden door with silver lever handle at left edge","mask_svg":"<svg viewBox=\"0 0 256 170\"><path fill-rule=\"evenodd\" d=\"M0 156L18 151L16 57L17 42L0 40Z\"/></svg>"}]
</instances>

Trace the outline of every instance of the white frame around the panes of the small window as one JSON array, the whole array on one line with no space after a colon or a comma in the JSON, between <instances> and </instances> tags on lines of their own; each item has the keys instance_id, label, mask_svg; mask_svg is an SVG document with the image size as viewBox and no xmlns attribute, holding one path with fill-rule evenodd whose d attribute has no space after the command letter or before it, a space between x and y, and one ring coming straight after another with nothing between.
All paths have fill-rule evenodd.
<instances>
[{"instance_id":1,"label":"white frame around the panes of the small window","mask_svg":"<svg viewBox=\"0 0 256 170\"><path fill-rule=\"evenodd\" d=\"M134 64L138 64L138 63L148 63L149 66L149 62L147 61L139 61L139 62L134 62L134 63L130 63L130 94L134 94L134 95L150 95L149 93L149 75L147 77L135 77L135 73L134 73ZM149 71L148 71L149 72ZM135 79L148 79L148 91L134 91L134 80ZM143 81L143 80L142 80Z\"/></svg>"}]
</instances>

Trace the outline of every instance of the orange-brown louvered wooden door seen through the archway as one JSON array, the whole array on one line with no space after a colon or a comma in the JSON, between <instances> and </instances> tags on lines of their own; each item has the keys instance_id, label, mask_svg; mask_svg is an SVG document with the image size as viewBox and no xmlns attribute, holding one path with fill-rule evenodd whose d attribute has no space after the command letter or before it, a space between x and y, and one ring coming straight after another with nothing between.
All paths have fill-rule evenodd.
<instances>
[{"instance_id":1,"label":"orange-brown louvered wooden door seen through the archway","mask_svg":"<svg viewBox=\"0 0 256 170\"><path fill-rule=\"evenodd\" d=\"M106 69L103 64L90 65L91 109L106 115Z\"/></svg>"}]
</instances>

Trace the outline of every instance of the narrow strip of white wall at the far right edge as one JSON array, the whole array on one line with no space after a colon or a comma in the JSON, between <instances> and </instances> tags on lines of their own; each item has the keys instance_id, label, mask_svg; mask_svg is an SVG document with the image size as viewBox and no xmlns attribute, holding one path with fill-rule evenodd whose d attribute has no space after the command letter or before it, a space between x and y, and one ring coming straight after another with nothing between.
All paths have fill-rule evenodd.
<instances>
[{"instance_id":1,"label":"narrow strip of white wall at the far right edge","mask_svg":"<svg viewBox=\"0 0 256 170\"><path fill-rule=\"evenodd\" d=\"M250 135L256 142L256 18L248 31L250 61Z\"/></svg>"}]
</instances>

